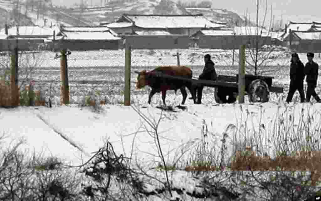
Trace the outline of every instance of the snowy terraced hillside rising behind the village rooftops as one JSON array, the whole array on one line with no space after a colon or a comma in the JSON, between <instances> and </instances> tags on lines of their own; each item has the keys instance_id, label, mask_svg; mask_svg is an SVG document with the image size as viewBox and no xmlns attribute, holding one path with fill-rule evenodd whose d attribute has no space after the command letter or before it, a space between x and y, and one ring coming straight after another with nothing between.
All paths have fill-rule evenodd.
<instances>
[{"instance_id":1,"label":"snowy terraced hillside rising behind the village rooftops","mask_svg":"<svg viewBox=\"0 0 321 201\"><path fill-rule=\"evenodd\" d=\"M11 1L0 0L0 28L4 27L7 16L13 16ZM65 26L99 25L101 22L113 22L124 13L128 14L204 14L214 22L227 22L229 27L245 25L244 18L237 13L226 9L215 8L184 8L171 0L138 0L138 1L109 1L105 6L78 6L62 8L54 5L45 5L38 14L37 9L22 4L20 9L20 25L63 24ZM24 15L26 14L26 16ZM9 20L10 21L10 20Z\"/></svg>"}]
</instances>

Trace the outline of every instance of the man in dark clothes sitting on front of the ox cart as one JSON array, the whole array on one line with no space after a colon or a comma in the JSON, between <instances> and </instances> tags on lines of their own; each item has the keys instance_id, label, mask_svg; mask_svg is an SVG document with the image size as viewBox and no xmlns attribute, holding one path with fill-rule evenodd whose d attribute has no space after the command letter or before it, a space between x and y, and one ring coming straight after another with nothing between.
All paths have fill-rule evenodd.
<instances>
[{"instance_id":1,"label":"man in dark clothes sitting on front of the ox cart","mask_svg":"<svg viewBox=\"0 0 321 201\"><path fill-rule=\"evenodd\" d=\"M214 62L211 60L211 55L206 54L204 56L204 62L205 66L203 69L203 72L201 75L199 75L199 80L216 80L217 75L214 68ZM202 104L202 92L203 92L204 86L197 86L195 87L195 96L197 94L197 102L196 104ZM189 99L193 99L193 97L190 97Z\"/></svg>"}]
</instances>

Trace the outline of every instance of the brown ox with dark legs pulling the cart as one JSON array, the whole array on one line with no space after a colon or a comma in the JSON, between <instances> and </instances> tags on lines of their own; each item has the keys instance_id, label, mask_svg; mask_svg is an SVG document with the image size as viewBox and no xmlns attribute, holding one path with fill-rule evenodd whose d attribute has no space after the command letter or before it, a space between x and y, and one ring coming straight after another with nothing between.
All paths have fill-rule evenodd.
<instances>
[{"instance_id":1,"label":"brown ox with dark legs pulling the cart","mask_svg":"<svg viewBox=\"0 0 321 201\"><path fill-rule=\"evenodd\" d=\"M162 100L164 105L165 104L165 98L166 98L166 91L167 90L175 90L175 93L178 89L182 92L183 95L183 101L182 104L185 103L187 92L185 90L185 87L188 88L189 92L191 93L192 97L194 97L194 103L195 103L195 95L193 95L193 89L192 89L192 82L188 80L180 80L180 79L173 79L173 78L163 78L160 76L157 76L157 73L160 72L165 75L169 76L176 76L176 77L182 77L182 78L188 78L192 79L192 70L185 67L185 66L164 66L164 67L158 67L152 71L146 72L146 70L143 70L141 72L137 72L137 83L136 87L141 89L143 87L150 86L152 87L152 91L149 94L148 97L148 104L151 104L152 96L155 93L162 92Z\"/></svg>"}]
</instances>

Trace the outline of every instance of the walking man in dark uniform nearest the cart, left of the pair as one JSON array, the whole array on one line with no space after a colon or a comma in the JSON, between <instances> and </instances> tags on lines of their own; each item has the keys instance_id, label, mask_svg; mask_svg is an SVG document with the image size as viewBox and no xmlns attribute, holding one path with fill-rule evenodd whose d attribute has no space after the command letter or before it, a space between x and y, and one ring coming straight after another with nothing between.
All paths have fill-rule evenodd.
<instances>
[{"instance_id":1,"label":"walking man in dark uniform nearest the cart, left of the pair","mask_svg":"<svg viewBox=\"0 0 321 201\"><path fill-rule=\"evenodd\" d=\"M290 89L286 102L290 103L292 101L293 95L296 90L299 91L301 103L304 103L304 64L300 61L299 55L297 53L292 54L291 66L290 66Z\"/></svg>"}]
</instances>

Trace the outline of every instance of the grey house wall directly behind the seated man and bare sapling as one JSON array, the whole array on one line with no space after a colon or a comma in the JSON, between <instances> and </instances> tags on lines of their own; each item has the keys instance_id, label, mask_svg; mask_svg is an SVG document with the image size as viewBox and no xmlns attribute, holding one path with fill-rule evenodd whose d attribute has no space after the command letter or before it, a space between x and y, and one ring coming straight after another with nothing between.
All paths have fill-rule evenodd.
<instances>
[{"instance_id":1,"label":"grey house wall directly behind the seated man and bare sapling","mask_svg":"<svg viewBox=\"0 0 321 201\"><path fill-rule=\"evenodd\" d=\"M256 46L256 36L200 36L197 42L199 48L210 49L225 49L231 50L233 48L238 49L242 44L250 43L251 47ZM258 38L259 47L262 45L271 44L270 37Z\"/></svg>"}]
</instances>

